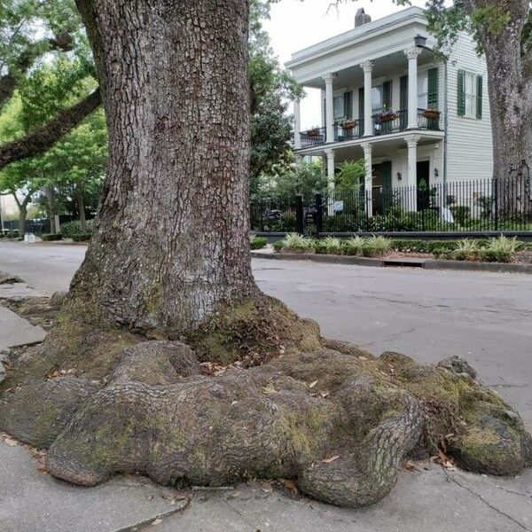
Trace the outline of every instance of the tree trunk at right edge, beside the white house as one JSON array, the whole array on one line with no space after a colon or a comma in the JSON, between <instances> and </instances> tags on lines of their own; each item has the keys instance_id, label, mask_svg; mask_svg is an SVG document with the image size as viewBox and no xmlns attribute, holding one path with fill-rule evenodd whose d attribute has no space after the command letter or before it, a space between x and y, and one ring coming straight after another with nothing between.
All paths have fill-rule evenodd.
<instances>
[{"instance_id":1,"label":"tree trunk at right edge, beside the white house","mask_svg":"<svg viewBox=\"0 0 532 532\"><path fill-rule=\"evenodd\" d=\"M500 4L465 2L470 14ZM504 28L492 31L488 21L478 30L488 65L497 202L503 216L532 217L532 183L526 169L532 168L532 49L521 49L530 7L528 0L506 0L502 7L510 20Z\"/></svg>"}]
</instances>

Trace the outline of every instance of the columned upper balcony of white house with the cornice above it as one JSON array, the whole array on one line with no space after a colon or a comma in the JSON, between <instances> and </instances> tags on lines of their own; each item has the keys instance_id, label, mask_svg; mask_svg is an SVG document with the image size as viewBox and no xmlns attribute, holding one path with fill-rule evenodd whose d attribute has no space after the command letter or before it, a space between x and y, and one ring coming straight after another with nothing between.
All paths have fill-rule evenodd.
<instances>
[{"instance_id":1,"label":"columned upper balcony of white house with the cornice above it","mask_svg":"<svg viewBox=\"0 0 532 532\"><path fill-rule=\"evenodd\" d=\"M442 131L444 64L430 50L420 8L317 43L293 54L287 66L303 87L321 90L319 127L301 132L294 102L296 150L407 130Z\"/></svg>"}]
</instances>

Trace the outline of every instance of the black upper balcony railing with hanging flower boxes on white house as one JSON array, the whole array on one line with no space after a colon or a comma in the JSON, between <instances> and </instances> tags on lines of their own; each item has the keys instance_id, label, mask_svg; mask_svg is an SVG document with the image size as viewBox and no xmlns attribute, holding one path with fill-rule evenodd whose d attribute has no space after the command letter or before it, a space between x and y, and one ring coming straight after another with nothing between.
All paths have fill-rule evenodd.
<instances>
[{"instance_id":1,"label":"black upper balcony railing with hanging flower boxes on white house","mask_svg":"<svg viewBox=\"0 0 532 532\"><path fill-rule=\"evenodd\" d=\"M373 135L388 135L408 127L408 109L373 114ZM418 128L440 131L440 113L433 109L418 109ZM324 145L326 128L301 131L301 148ZM364 136L364 119L347 119L334 123L334 142L346 142Z\"/></svg>"}]
</instances>

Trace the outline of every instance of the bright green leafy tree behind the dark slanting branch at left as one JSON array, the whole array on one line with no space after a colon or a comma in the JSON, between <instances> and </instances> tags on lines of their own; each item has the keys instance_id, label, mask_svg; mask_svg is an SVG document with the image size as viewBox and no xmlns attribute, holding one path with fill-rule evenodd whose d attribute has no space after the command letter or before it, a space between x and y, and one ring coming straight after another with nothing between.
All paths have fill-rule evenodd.
<instances>
[{"instance_id":1,"label":"bright green leafy tree behind the dark slanting branch at left","mask_svg":"<svg viewBox=\"0 0 532 532\"><path fill-rule=\"evenodd\" d=\"M57 58L51 64L43 64L28 73L23 82L20 82L19 90L12 98L11 105L4 117L4 128L0 132L0 140L25 137L35 130L39 130L44 123L51 120L60 109L68 106L73 100L81 98L95 85L87 69L87 63L83 60L69 60ZM75 175L74 181L79 184L77 197L82 201L82 191L88 176L93 173L88 168L97 168L102 165L101 150L105 151L105 123L103 115L92 119L84 124L81 129L68 134L64 142L57 145L49 153L17 160L11 165L0 170L0 191L10 193L15 198L19 207L20 235L24 234L27 206L35 198L36 192L46 192L49 205L53 204L54 186L58 180L65 181L66 176ZM90 124L98 124L99 134L103 138L100 150L94 149L94 142L87 135L93 131ZM86 143L86 145L83 145ZM80 153L84 149L85 154ZM92 153L87 150L92 149ZM75 153L74 153L75 152ZM70 153L70 157L66 154ZM99 154L99 156L98 156ZM106 154L103 155L105 161ZM76 165L72 164L76 160ZM69 168L70 167L70 168ZM77 172L77 174L76 174ZM83 172L88 172L82 177ZM101 172L98 176L101 179ZM50 209L49 209L50 210ZM83 213L84 214L84 213ZM51 224L53 216L51 215Z\"/></svg>"}]
</instances>

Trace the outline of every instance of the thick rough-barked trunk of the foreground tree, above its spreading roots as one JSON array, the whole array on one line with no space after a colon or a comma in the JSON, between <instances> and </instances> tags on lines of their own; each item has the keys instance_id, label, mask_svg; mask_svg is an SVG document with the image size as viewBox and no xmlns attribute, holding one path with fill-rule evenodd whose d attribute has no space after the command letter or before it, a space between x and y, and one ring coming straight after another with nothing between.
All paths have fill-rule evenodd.
<instances>
[{"instance_id":1,"label":"thick rough-barked trunk of the foreground tree, above its spreading roots","mask_svg":"<svg viewBox=\"0 0 532 532\"><path fill-rule=\"evenodd\" d=\"M248 4L77 4L98 68L109 169L71 301L90 297L113 322L178 334L255 291Z\"/></svg>"}]
</instances>

